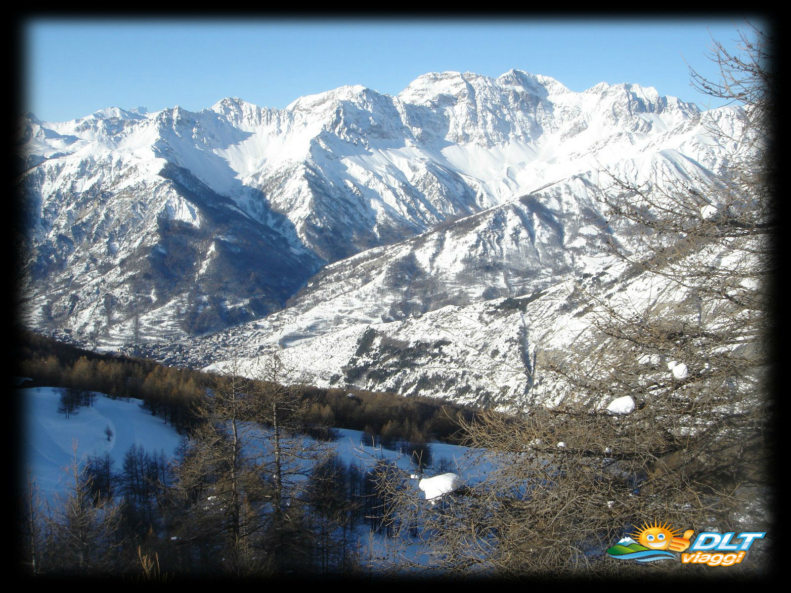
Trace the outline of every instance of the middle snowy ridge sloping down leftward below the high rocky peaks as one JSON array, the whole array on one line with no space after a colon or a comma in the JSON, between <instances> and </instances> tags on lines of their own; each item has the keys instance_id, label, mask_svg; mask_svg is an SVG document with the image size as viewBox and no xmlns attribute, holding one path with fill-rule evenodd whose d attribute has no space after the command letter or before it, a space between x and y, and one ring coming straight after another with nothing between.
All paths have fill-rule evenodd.
<instances>
[{"instance_id":1,"label":"middle snowy ridge sloping down leftward below the high rocky peaks","mask_svg":"<svg viewBox=\"0 0 791 593\"><path fill-rule=\"evenodd\" d=\"M706 176L690 161L673 165L686 165L690 177ZM624 161L622 170L623 178L635 183L651 179L634 161ZM647 172L667 171L657 166ZM327 265L286 310L192 347L208 349L208 343L221 341L247 354L263 346L288 348L356 323L390 322L448 304L535 293L564 278L596 274L611 263L602 255L606 244L629 243L628 229L613 227L600 215L600 185L598 172L586 172Z\"/></svg>"}]
</instances>

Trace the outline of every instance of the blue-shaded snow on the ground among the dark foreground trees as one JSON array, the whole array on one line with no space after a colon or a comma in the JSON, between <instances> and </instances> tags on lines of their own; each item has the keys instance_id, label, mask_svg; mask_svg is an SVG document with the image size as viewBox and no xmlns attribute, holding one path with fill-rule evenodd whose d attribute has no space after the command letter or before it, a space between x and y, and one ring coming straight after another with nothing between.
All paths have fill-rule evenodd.
<instances>
[{"instance_id":1,"label":"blue-shaded snow on the ground among the dark foreground trees","mask_svg":"<svg viewBox=\"0 0 791 593\"><path fill-rule=\"evenodd\" d=\"M23 410L24 463L21 465L25 475L19 476L19 484L26 484L29 468L40 496L51 504L66 494L70 485L66 469L74 459L74 440L78 442L77 455L81 463L90 455L104 455L108 451L115 462L115 470L120 470L123 456L132 445L142 445L149 453L163 450L172 458L183 438L161 418L143 410L137 399L113 400L97 393L92 407L81 407L78 414L66 418L58 412L59 388L34 387L14 392L21 398ZM107 427L113 432L110 440L105 434ZM431 443L432 462L421 474L409 455L365 444L365 435L358 430L338 429L337 440L328 446L335 449L346 465L372 467L380 460L394 463L403 471L410 488L406 495L414 500L414 508L426 511L434 508L445 493L479 482L494 469L494 458L486 455L483 459L484 451ZM410 474L411 479L407 478ZM448 479L452 479L452 484L446 483ZM401 561L411 566L433 565L430 554L419 543L420 534L399 536L400 539L394 541L384 533L370 531L366 523L358 525L357 532L361 556L369 557L376 565L392 566ZM398 552L394 552L396 548Z\"/></svg>"}]
</instances>

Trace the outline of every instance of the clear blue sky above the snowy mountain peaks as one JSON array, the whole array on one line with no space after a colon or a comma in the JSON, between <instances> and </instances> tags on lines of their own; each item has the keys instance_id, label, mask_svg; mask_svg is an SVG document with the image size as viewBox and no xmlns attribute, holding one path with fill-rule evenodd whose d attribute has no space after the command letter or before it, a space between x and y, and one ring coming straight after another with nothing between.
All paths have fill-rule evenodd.
<instances>
[{"instance_id":1,"label":"clear blue sky above the snowy mountain peaks","mask_svg":"<svg viewBox=\"0 0 791 593\"><path fill-rule=\"evenodd\" d=\"M753 20L763 25L760 20ZM23 108L65 121L107 107L199 111L226 96L284 108L342 85L395 95L426 72L545 74L573 91L633 82L715 107L684 59L716 77L711 38L744 18L79 20L21 24Z\"/></svg>"}]
</instances>

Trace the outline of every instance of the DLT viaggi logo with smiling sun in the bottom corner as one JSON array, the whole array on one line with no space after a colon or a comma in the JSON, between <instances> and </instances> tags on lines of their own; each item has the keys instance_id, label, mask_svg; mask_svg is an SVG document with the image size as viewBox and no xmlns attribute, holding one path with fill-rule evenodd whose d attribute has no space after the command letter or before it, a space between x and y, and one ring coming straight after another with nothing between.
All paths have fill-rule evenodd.
<instances>
[{"instance_id":1,"label":"DLT viaggi logo with smiling sun in the bottom corner","mask_svg":"<svg viewBox=\"0 0 791 593\"><path fill-rule=\"evenodd\" d=\"M673 552L681 553L683 564L702 564L709 566L732 566L744 560L756 539L763 538L766 531L743 531L734 538L735 531L721 534L717 531L702 531L691 542L694 530L672 529L669 523L643 523L642 527L630 536L621 538L607 554L619 560L653 562L678 558ZM689 550L685 552L684 550ZM672 551L668 551L672 550Z\"/></svg>"}]
</instances>

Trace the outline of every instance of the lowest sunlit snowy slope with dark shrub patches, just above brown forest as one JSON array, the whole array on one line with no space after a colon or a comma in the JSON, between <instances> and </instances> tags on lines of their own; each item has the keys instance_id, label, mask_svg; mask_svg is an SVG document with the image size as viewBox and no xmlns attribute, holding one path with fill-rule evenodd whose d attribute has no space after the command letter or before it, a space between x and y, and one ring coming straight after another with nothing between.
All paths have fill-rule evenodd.
<instances>
[{"instance_id":1,"label":"lowest sunlit snowy slope with dark shrub patches, just above brown forest","mask_svg":"<svg viewBox=\"0 0 791 593\"><path fill-rule=\"evenodd\" d=\"M688 265L727 266L728 257L704 251L689 256ZM569 387L544 368L550 363L577 364L573 361L594 350L606 353L607 338L596 334L594 323L604 315L605 307L624 312L683 312L680 303L686 295L668 287L657 274L606 261L590 269L520 296L450 304L385 322L345 323L341 319L335 329L327 323L317 334L306 331L301 340L283 348L276 343L277 334L253 330L225 333L222 342L202 346L214 346L212 355L220 359L223 353L241 356L238 362L250 376L259 368L259 357L277 352L292 369L294 382L354 385L504 410L536 403L555 406L570 393ZM752 298L757 285L738 289L745 298ZM706 315L705 305L702 312L693 309L688 312L693 317ZM676 379L683 378L683 372L703 370L688 369L683 361L670 358L639 363L645 364L646 373L672 374ZM220 360L209 368L225 364ZM614 414L629 413L634 403L606 393L599 401L588 402Z\"/></svg>"}]
</instances>

